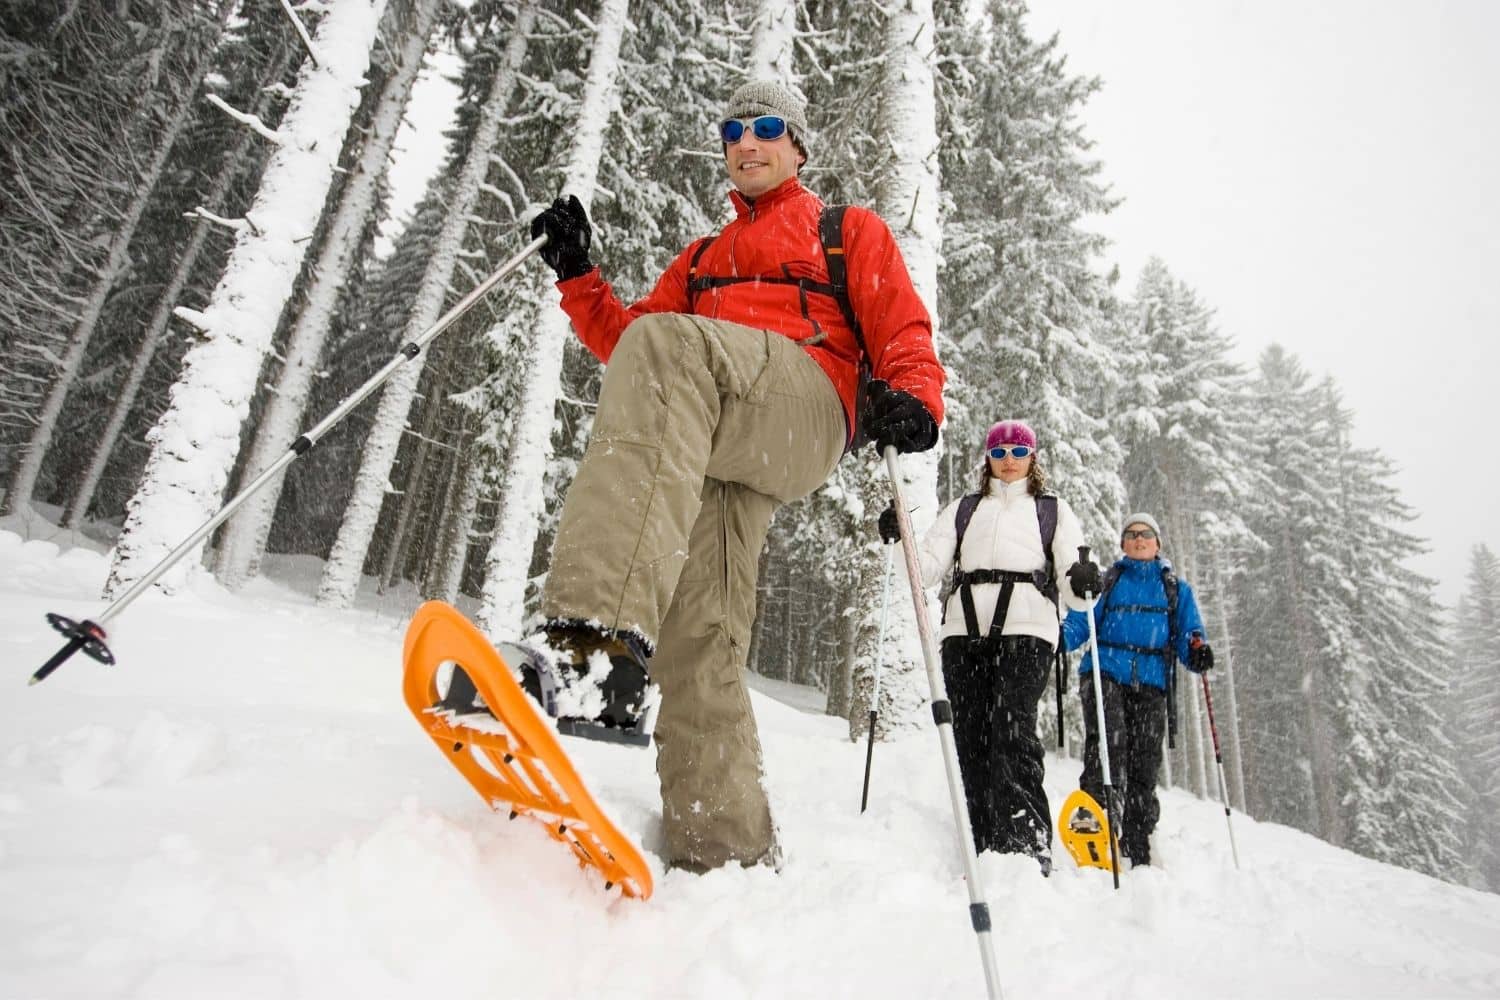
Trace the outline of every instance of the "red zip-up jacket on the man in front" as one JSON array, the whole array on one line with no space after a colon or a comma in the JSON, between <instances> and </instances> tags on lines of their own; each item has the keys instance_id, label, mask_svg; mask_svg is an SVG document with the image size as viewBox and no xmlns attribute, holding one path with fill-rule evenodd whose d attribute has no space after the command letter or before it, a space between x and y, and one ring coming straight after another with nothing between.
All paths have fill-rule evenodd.
<instances>
[{"instance_id":1,"label":"red zip-up jacket on the man in front","mask_svg":"<svg viewBox=\"0 0 1500 1000\"><path fill-rule=\"evenodd\" d=\"M818 217L824 202L794 177L754 202L729 192L735 220L712 238L698 261L698 273L714 277L810 277L828 280ZM858 391L860 346L831 295L804 295L794 285L744 282L711 288L690 304L687 270L693 241L666 268L656 288L626 307L596 267L588 274L558 282L562 309L573 321L579 340L600 361L620 342L636 316L650 312L680 312L728 319L758 330L774 330L802 345L828 379L854 426ZM891 229L867 208L850 207L844 214L844 259L849 271L849 301L860 318L874 378L922 400L942 423L942 387L946 375L933 351L932 318L912 288L906 262ZM818 337L818 333L825 336Z\"/></svg>"}]
</instances>

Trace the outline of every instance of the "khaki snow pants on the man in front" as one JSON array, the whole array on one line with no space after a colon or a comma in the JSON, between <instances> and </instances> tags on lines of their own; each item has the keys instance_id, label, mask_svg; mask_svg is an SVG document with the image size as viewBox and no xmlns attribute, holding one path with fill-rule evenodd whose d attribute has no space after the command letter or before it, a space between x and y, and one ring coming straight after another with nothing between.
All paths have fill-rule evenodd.
<instances>
[{"instance_id":1,"label":"khaki snow pants on the man in front","mask_svg":"<svg viewBox=\"0 0 1500 1000\"><path fill-rule=\"evenodd\" d=\"M774 859L742 678L756 573L771 514L822 486L843 447L832 382L777 333L652 313L604 369L542 613L654 643L669 864Z\"/></svg>"}]
</instances>

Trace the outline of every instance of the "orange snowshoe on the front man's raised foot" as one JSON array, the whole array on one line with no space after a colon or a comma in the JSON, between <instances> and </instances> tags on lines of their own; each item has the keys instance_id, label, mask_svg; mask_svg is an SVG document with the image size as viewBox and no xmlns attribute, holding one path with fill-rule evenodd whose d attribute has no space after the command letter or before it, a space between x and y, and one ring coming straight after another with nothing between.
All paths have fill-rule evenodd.
<instances>
[{"instance_id":1,"label":"orange snowshoe on the front man's raised foot","mask_svg":"<svg viewBox=\"0 0 1500 1000\"><path fill-rule=\"evenodd\" d=\"M542 823L573 849L580 867L604 877L606 889L651 897L651 868L640 850L590 795L552 724L483 633L448 604L428 601L406 628L404 663L406 708L480 798L508 810L510 819ZM444 700L438 673L447 664L454 679L472 684L482 705Z\"/></svg>"}]
</instances>

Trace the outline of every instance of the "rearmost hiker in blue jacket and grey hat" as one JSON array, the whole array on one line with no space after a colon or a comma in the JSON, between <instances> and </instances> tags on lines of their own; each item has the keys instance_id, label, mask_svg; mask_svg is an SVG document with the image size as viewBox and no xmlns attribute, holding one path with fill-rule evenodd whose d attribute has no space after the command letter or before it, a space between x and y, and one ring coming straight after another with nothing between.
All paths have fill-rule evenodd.
<instances>
[{"instance_id":1,"label":"rearmost hiker in blue jacket and grey hat","mask_svg":"<svg viewBox=\"0 0 1500 1000\"><path fill-rule=\"evenodd\" d=\"M1150 514L1131 514L1120 531L1119 559L1100 576L1095 562L1070 570L1076 594L1101 595L1095 604L1100 634L1100 681L1104 688L1104 726L1110 741L1110 780L1120 804L1120 853L1132 865L1150 864L1150 834L1156 829L1156 772L1161 769L1167 723L1168 672L1184 663L1202 673L1214 666L1214 651L1203 634L1203 616L1186 580L1178 579L1161 558L1161 528ZM1170 613L1168 613L1170 609ZM1062 624L1068 649L1089 645L1089 616L1071 610ZM1094 705L1094 658L1078 664L1083 702L1083 774L1078 784L1104 804L1104 769L1100 763L1098 717ZM1078 813L1084 813L1080 810ZM1076 813L1076 829L1098 829L1094 817Z\"/></svg>"}]
</instances>

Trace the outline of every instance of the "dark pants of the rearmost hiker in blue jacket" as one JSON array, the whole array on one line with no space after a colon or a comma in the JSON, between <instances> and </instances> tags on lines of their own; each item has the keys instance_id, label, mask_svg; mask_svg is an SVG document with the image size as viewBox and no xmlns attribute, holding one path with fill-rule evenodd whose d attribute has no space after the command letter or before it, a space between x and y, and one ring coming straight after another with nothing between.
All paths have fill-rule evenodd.
<instances>
[{"instance_id":1,"label":"dark pants of the rearmost hiker in blue jacket","mask_svg":"<svg viewBox=\"0 0 1500 1000\"><path fill-rule=\"evenodd\" d=\"M1150 832L1156 829L1156 772L1161 738L1167 730L1167 693L1142 684L1130 687L1101 675L1104 727L1110 735L1110 781L1114 786L1116 837L1120 853L1137 865L1150 864ZM1083 775L1078 784L1104 805L1104 766L1100 763L1100 724L1094 708L1094 673L1078 684L1083 700Z\"/></svg>"}]
</instances>

